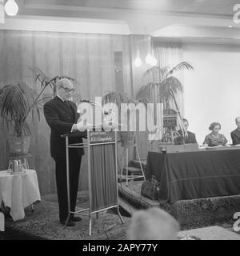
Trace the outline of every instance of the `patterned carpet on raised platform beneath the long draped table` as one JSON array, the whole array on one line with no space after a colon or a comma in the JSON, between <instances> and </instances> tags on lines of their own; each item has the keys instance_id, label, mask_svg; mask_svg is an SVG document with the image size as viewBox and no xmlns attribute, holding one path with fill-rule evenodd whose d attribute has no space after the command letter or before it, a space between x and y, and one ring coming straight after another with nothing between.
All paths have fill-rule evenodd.
<instances>
[{"instance_id":1,"label":"patterned carpet on raised platform beneath the long draped table","mask_svg":"<svg viewBox=\"0 0 240 256\"><path fill-rule=\"evenodd\" d=\"M179 200L174 204L160 203L141 196L142 182L118 186L120 197L137 209L161 207L174 216L182 230L202 226L232 226L234 213L240 212L240 195Z\"/></svg>"}]
</instances>

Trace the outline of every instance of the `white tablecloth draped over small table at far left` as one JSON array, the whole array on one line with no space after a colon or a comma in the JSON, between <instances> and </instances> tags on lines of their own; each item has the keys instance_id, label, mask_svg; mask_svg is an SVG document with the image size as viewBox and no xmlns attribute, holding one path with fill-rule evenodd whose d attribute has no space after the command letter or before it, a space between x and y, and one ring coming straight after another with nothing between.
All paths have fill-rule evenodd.
<instances>
[{"instance_id":1,"label":"white tablecloth draped over small table at far left","mask_svg":"<svg viewBox=\"0 0 240 256\"><path fill-rule=\"evenodd\" d=\"M10 174L0 171L0 203L10 207L14 221L25 217L24 208L40 201L38 178L35 170L26 170L25 174Z\"/></svg>"}]
</instances>

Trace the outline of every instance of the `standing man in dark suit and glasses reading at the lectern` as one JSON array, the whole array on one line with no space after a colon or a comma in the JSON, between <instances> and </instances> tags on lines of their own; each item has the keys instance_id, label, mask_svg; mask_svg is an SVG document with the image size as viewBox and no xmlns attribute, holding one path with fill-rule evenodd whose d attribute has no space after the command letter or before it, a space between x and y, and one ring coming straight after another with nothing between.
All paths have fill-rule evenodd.
<instances>
[{"instance_id":1,"label":"standing man in dark suit and glasses reading at the lectern","mask_svg":"<svg viewBox=\"0 0 240 256\"><path fill-rule=\"evenodd\" d=\"M62 134L78 130L77 122L79 114L77 106L70 101L74 93L74 86L67 78L57 81L57 96L44 105L46 122L50 126L50 152L55 161L55 174L58 190L59 218L65 224L68 216L67 186L66 186L66 142ZM86 132L82 132L86 137ZM82 137L70 138L70 143L82 143ZM70 210L74 211L78 194L78 177L81 166L83 149L71 149L70 160ZM81 221L81 218L70 215L67 226L74 226L74 222Z\"/></svg>"}]
</instances>

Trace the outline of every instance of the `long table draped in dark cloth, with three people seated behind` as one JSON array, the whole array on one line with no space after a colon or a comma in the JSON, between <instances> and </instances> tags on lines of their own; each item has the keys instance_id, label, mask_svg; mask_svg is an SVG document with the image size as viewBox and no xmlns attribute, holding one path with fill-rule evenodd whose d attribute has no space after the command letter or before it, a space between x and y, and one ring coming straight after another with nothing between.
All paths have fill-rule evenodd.
<instances>
[{"instance_id":1,"label":"long table draped in dark cloth, with three people seated behind","mask_svg":"<svg viewBox=\"0 0 240 256\"><path fill-rule=\"evenodd\" d=\"M159 201L240 194L240 148L182 153L150 151L146 179L159 182Z\"/></svg>"}]
</instances>

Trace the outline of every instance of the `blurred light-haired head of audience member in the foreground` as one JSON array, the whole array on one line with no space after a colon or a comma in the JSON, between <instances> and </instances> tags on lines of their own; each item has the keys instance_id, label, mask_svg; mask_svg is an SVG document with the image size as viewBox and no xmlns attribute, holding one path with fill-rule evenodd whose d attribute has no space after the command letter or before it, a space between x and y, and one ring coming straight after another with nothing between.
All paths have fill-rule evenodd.
<instances>
[{"instance_id":1,"label":"blurred light-haired head of audience member in the foreground","mask_svg":"<svg viewBox=\"0 0 240 256\"><path fill-rule=\"evenodd\" d=\"M165 210L153 207L133 214L128 239L130 240L177 240L179 224Z\"/></svg>"}]
</instances>

